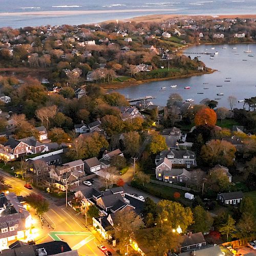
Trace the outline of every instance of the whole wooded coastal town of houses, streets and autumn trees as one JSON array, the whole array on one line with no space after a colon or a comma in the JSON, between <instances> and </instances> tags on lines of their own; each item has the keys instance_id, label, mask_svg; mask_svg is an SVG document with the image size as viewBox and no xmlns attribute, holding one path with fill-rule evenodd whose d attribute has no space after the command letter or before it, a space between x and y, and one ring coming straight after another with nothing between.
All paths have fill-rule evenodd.
<instances>
[{"instance_id":1,"label":"whole wooded coastal town of houses, streets and autumn trees","mask_svg":"<svg viewBox=\"0 0 256 256\"><path fill-rule=\"evenodd\" d=\"M0 28L0 254L256 255L255 86L172 82L255 41L256 15Z\"/></svg>"}]
</instances>

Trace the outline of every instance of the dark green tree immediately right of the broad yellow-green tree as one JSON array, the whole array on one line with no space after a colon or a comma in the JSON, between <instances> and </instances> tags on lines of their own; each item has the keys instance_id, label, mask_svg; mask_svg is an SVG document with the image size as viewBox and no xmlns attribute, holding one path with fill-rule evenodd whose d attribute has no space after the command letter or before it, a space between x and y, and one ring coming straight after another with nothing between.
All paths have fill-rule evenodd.
<instances>
[{"instance_id":1,"label":"dark green tree immediately right of the broad yellow-green tree","mask_svg":"<svg viewBox=\"0 0 256 256\"><path fill-rule=\"evenodd\" d=\"M210 213L200 205L193 209L194 216L194 229L195 232L208 232L209 228L214 223L214 219L211 217Z\"/></svg>"}]
</instances>

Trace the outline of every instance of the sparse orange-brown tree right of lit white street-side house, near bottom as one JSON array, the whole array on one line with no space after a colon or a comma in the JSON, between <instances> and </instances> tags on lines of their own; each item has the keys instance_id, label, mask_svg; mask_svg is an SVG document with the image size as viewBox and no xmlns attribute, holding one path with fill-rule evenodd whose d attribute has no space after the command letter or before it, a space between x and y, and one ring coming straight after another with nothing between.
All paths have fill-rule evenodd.
<instances>
[{"instance_id":1,"label":"sparse orange-brown tree right of lit white street-side house, near bottom","mask_svg":"<svg viewBox=\"0 0 256 256\"><path fill-rule=\"evenodd\" d=\"M143 227L142 219L135 211L124 208L117 211L114 218L113 233L119 240L121 252L125 251L130 240L135 240L135 232Z\"/></svg>"}]
</instances>

